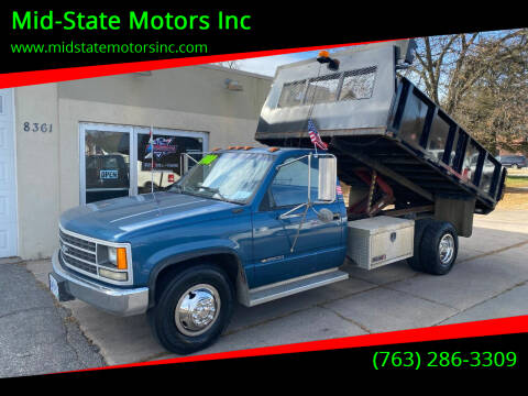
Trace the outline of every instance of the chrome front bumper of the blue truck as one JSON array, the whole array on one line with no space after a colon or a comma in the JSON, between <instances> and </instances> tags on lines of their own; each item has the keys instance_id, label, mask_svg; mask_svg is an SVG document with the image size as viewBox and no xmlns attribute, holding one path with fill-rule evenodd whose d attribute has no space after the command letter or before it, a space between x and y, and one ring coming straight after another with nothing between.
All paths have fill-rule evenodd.
<instances>
[{"instance_id":1,"label":"chrome front bumper of the blue truck","mask_svg":"<svg viewBox=\"0 0 528 396\"><path fill-rule=\"evenodd\" d=\"M64 292L89 305L118 316L132 316L146 312L148 307L148 288L139 287L121 289L108 287L81 278L70 271L66 271L59 263L58 250L52 257L52 276L64 284Z\"/></svg>"}]
</instances>

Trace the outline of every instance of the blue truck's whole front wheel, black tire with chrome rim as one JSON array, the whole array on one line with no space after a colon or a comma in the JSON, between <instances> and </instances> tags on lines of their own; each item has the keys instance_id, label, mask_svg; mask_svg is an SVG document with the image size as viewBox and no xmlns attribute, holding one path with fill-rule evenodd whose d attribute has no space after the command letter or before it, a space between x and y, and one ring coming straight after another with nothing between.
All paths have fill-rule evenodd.
<instances>
[{"instance_id":1,"label":"blue truck's whole front wheel, black tire with chrome rim","mask_svg":"<svg viewBox=\"0 0 528 396\"><path fill-rule=\"evenodd\" d=\"M233 287L221 268L194 265L166 284L154 308L147 311L148 322L167 351L193 353L220 337L231 319L233 300Z\"/></svg>"}]
</instances>

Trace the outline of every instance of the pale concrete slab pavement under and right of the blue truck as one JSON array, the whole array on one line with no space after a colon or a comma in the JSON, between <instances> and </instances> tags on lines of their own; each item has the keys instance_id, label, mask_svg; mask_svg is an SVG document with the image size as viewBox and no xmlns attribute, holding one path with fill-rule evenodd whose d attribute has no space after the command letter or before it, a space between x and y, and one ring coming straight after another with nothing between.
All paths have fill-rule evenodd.
<instances>
[{"instance_id":1,"label":"pale concrete slab pavement under and right of the blue truck","mask_svg":"<svg viewBox=\"0 0 528 396\"><path fill-rule=\"evenodd\" d=\"M446 276L411 271L406 262L253 308L238 306L220 340L197 354L528 314L528 211L475 216L473 237L460 239L457 264ZM47 284L50 261L26 263ZM145 316L119 318L82 301L72 310L109 365L177 358L153 339Z\"/></svg>"}]
</instances>

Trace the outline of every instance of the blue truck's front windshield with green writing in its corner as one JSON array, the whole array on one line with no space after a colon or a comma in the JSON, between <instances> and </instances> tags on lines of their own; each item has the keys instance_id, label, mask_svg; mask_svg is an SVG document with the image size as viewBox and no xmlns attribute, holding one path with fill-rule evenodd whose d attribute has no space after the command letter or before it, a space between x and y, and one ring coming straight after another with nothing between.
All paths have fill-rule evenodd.
<instances>
[{"instance_id":1,"label":"blue truck's front windshield with green writing in its corner","mask_svg":"<svg viewBox=\"0 0 528 396\"><path fill-rule=\"evenodd\" d=\"M272 163L273 156L266 154L208 154L169 191L245 204Z\"/></svg>"}]
</instances>

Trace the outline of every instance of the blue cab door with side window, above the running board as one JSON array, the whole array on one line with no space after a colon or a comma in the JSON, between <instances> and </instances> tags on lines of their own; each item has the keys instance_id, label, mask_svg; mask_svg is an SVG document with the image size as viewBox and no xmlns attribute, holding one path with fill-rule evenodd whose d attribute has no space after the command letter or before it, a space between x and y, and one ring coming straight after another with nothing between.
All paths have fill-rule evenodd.
<instances>
[{"instance_id":1,"label":"blue cab door with side window, above the running board","mask_svg":"<svg viewBox=\"0 0 528 396\"><path fill-rule=\"evenodd\" d=\"M290 161L286 160L286 161ZM311 200L317 200L318 164L310 170ZM276 170L261 207L253 217L253 252L255 285L290 279L336 267L344 260L342 220L339 201L302 207L280 219L308 200L308 160L304 158ZM327 208L334 213L329 222L317 212ZM306 213L305 213L306 211ZM299 230L299 226L300 230ZM298 234L298 238L296 238ZM295 245L294 245L295 244ZM293 249L293 251L292 251Z\"/></svg>"}]
</instances>

